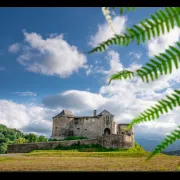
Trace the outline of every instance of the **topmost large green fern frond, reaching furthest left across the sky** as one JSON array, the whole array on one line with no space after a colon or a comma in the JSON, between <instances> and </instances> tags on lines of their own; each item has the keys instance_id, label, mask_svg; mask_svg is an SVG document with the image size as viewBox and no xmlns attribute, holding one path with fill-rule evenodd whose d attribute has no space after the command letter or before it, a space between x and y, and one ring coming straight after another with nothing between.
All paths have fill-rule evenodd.
<instances>
[{"instance_id":1,"label":"topmost large green fern frond, reaching furthest left across the sky","mask_svg":"<svg viewBox=\"0 0 180 180\"><path fill-rule=\"evenodd\" d=\"M123 11L124 12L124 11ZM179 7L167 7L165 10L159 10L154 15L151 15L151 19L145 18L144 21L140 21L140 25L134 25L132 28L127 28L126 33L123 35L115 34L113 38L108 39L105 42L100 43L97 47L89 51L89 54L106 50L110 45L127 46L134 40L139 45L150 40L153 37L165 34L165 29L169 32L177 24L180 27L180 8Z\"/></svg>"}]
</instances>

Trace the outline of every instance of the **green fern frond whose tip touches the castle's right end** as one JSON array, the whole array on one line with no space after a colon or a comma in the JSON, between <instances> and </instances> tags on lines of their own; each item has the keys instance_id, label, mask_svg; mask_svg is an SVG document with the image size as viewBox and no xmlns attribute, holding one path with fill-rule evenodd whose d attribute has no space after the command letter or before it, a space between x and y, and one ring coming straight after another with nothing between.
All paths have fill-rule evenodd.
<instances>
[{"instance_id":1,"label":"green fern frond whose tip touches the castle's right end","mask_svg":"<svg viewBox=\"0 0 180 180\"><path fill-rule=\"evenodd\" d=\"M180 91L174 90L174 92L175 94L167 95L167 99L158 101L156 105L151 106L151 108L145 110L138 117L132 120L127 129L141 122L158 119L161 114L168 113L169 110L173 110L175 107L180 106Z\"/></svg>"}]
</instances>

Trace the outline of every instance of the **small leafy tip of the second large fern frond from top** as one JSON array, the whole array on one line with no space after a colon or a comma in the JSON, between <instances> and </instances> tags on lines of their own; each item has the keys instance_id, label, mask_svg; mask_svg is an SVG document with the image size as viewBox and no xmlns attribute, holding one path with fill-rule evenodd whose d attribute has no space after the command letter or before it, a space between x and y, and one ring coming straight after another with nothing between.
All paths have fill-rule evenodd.
<instances>
[{"instance_id":1,"label":"small leafy tip of the second large fern frond from top","mask_svg":"<svg viewBox=\"0 0 180 180\"><path fill-rule=\"evenodd\" d=\"M116 74L113 74L111 77L110 77L110 80L109 80L109 84L111 83L112 80L117 80L117 79L131 79L132 77L134 76L134 72L132 71L128 71L128 70L123 70L123 71L120 71L120 72L117 72Z\"/></svg>"}]
</instances>

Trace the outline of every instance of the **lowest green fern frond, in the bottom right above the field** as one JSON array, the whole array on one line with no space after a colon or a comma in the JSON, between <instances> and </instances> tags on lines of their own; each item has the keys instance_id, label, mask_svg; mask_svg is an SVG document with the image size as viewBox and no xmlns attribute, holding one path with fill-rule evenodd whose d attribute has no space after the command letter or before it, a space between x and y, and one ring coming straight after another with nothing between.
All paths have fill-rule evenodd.
<instances>
[{"instance_id":1,"label":"lowest green fern frond, in the bottom right above the field","mask_svg":"<svg viewBox=\"0 0 180 180\"><path fill-rule=\"evenodd\" d=\"M178 139L180 139L180 126L178 126L178 129L172 131L171 135L168 135L164 138L164 140L153 150L147 160L151 159L154 155L162 152L170 144L173 144Z\"/></svg>"}]
</instances>

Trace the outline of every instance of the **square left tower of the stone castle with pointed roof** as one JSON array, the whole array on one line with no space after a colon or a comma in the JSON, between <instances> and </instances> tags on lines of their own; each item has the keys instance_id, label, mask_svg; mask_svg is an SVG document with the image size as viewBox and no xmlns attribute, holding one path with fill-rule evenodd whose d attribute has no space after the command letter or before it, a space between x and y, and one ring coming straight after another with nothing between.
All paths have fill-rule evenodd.
<instances>
[{"instance_id":1,"label":"square left tower of the stone castle with pointed roof","mask_svg":"<svg viewBox=\"0 0 180 180\"><path fill-rule=\"evenodd\" d=\"M53 117L52 139L64 139L73 135L73 113L63 110Z\"/></svg>"}]
</instances>

